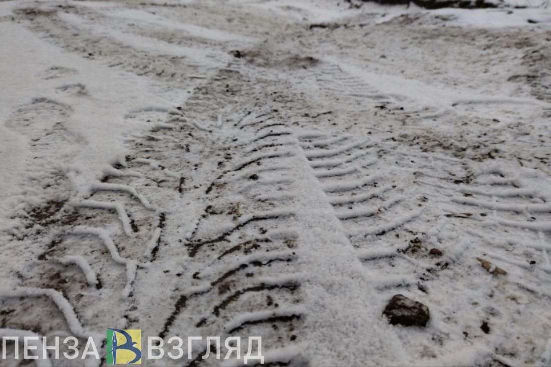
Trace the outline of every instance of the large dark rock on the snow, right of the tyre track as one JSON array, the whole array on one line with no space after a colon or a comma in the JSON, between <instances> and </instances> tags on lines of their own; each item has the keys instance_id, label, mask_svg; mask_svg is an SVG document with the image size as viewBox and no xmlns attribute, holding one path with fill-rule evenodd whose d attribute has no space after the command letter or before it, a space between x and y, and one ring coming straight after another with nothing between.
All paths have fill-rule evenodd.
<instances>
[{"instance_id":1,"label":"large dark rock on the snow, right of the tyre track","mask_svg":"<svg viewBox=\"0 0 551 367\"><path fill-rule=\"evenodd\" d=\"M382 314L392 325L426 326L430 319L429 307L402 294L393 296Z\"/></svg>"}]
</instances>

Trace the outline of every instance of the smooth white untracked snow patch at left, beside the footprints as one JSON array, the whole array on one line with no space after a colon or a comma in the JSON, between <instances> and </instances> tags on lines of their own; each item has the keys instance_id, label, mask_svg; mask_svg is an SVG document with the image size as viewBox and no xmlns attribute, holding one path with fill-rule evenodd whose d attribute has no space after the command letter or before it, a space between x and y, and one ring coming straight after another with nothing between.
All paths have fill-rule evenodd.
<instances>
[{"instance_id":1,"label":"smooth white untracked snow patch at left, beside the footprints","mask_svg":"<svg viewBox=\"0 0 551 367\"><path fill-rule=\"evenodd\" d=\"M113 71L105 66L83 60L80 57L63 53L58 48L41 42L34 34L20 25L0 24L3 41L3 52L0 56L2 64L2 91L0 92L0 110L2 120L7 120L10 106L29 103L34 96L42 96L60 104L71 106L73 116L67 123L67 128L83 137L86 149L67 163L74 172L77 190L84 190L86 182L98 176L98 171L116 160L123 153L121 150L122 134L128 129L145 129L143 124L128 124L123 116L128 110L146 106L160 106L170 110L172 106L166 101L149 92L147 82L133 78L131 75ZM32 55L32 56L30 56ZM34 62L29 62L32 57ZM53 92L56 79L41 80L40 73L51 65L63 65L78 70L78 75L64 77L66 83L76 83L86 80L86 87L91 99L78 96L60 96ZM106 75L110 77L105 78ZM105 78L105 80L104 80ZM134 80L132 80L134 79ZM132 81L131 81L132 80ZM119 97L124 96L123 100ZM101 106L101 111L98 111ZM118 117L115 117L118 116ZM5 127L2 127L5 129ZM18 184L22 178L20 169L27 152L23 150L23 136L13 132L2 134L4 162L10 164L7 175L2 175L0 192L6 203L6 198L17 193ZM4 208L6 209L6 208ZM7 210L7 209L6 209ZM3 211L6 213L6 211Z\"/></svg>"}]
</instances>

